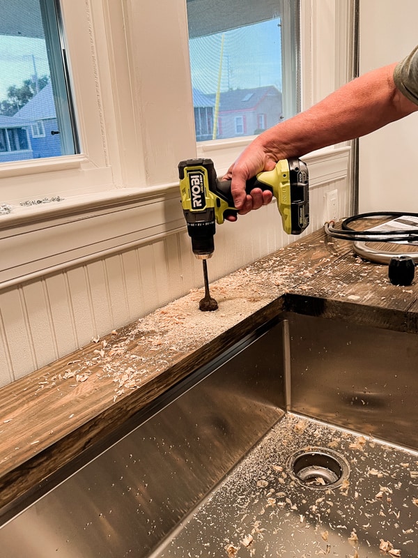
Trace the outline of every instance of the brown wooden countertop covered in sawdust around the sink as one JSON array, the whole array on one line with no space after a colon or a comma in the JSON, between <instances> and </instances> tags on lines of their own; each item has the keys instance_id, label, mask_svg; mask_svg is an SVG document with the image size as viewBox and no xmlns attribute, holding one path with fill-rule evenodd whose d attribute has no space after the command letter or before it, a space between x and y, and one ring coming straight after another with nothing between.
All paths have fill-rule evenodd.
<instances>
[{"instance_id":1,"label":"brown wooden countertop covered in sawdust around the sink","mask_svg":"<svg viewBox=\"0 0 418 558\"><path fill-rule=\"evenodd\" d=\"M3 387L0 509L282 310L418 333L417 283L391 285L387 266L321 230L212 283L215 312L190 292Z\"/></svg>"}]
</instances>

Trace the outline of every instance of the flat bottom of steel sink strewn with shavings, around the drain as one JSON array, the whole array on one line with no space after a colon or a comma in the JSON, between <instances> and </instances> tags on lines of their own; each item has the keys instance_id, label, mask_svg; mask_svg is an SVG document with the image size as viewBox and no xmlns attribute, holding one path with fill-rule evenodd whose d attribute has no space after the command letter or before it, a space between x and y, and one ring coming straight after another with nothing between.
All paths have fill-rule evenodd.
<instances>
[{"instance_id":1,"label":"flat bottom of steel sink strewn with shavings, around the drain","mask_svg":"<svg viewBox=\"0 0 418 558\"><path fill-rule=\"evenodd\" d=\"M342 455L341 484L301 481L300 452ZM417 557L417 458L288 413L153 556Z\"/></svg>"}]
</instances>

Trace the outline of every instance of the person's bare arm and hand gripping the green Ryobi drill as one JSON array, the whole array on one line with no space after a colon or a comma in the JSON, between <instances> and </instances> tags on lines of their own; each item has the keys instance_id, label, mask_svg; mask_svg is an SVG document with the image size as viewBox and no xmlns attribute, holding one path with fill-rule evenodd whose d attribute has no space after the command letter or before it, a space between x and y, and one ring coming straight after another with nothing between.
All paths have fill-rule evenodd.
<instances>
[{"instance_id":1,"label":"person's bare arm and hand gripping the green Ryobi drill","mask_svg":"<svg viewBox=\"0 0 418 558\"><path fill-rule=\"evenodd\" d=\"M357 77L313 107L273 126L247 146L224 176L238 213L244 215L271 201L270 192L245 193L245 181L271 170L280 159L300 157L325 146L353 140L418 110L396 87L390 64Z\"/></svg>"}]
</instances>

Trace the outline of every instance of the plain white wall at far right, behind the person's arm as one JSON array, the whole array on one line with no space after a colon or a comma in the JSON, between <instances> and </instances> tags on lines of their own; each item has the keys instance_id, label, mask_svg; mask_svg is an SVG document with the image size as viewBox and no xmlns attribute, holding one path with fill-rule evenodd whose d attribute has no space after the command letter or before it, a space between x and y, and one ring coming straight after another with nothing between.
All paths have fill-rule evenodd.
<instances>
[{"instance_id":1,"label":"plain white wall at far right, behind the person's arm","mask_svg":"<svg viewBox=\"0 0 418 558\"><path fill-rule=\"evenodd\" d=\"M403 59L418 44L417 0L361 0L360 73ZM359 212L418 211L418 114L359 140Z\"/></svg>"}]
</instances>

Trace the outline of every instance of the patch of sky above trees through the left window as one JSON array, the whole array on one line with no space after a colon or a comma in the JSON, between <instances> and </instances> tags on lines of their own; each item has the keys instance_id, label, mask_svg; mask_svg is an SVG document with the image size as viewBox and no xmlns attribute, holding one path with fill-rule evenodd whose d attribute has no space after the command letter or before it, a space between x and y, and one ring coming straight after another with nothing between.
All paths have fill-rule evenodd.
<instances>
[{"instance_id":1,"label":"patch of sky above trees through the left window","mask_svg":"<svg viewBox=\"0 0 418 558\"><path fill-rule=\"evenodd\" d=\"M49 75L45 40L28 37L0 36L0 100L7 97L10 85L21 86L34 73Z\"/></svg>"}]
</instances>

